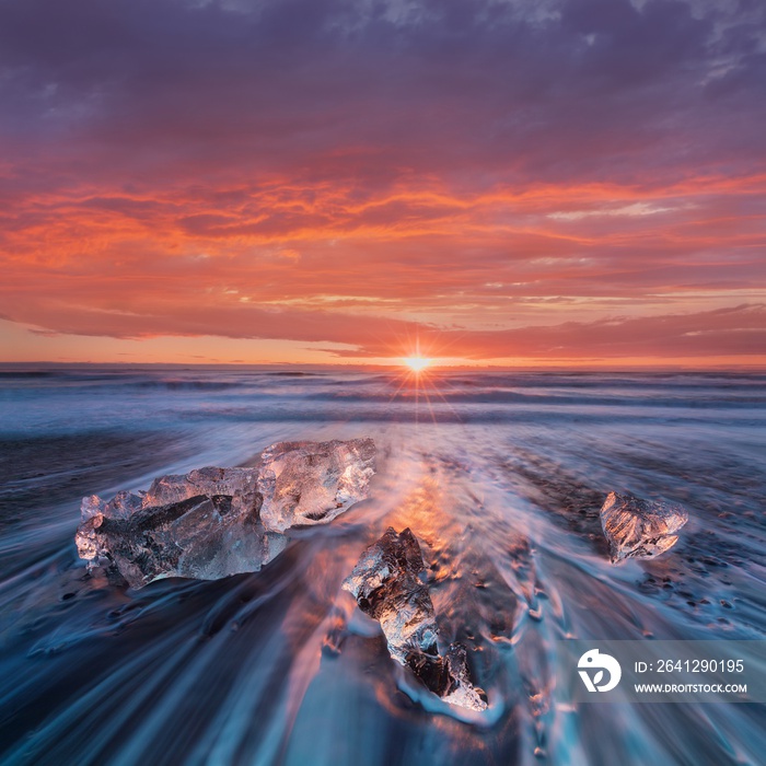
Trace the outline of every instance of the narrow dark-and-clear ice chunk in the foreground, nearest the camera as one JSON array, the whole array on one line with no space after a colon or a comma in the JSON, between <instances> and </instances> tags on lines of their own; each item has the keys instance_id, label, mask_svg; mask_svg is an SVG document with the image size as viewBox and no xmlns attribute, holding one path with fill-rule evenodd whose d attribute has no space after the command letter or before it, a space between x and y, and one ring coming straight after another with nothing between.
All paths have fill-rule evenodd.
<instances>
[{"instance_id":1,"label":"narrow dark-and-clear ice chunk in the foreground, nearest the camera","mask_svg":"<svg viewBox=\"0 0 766 766\"><path fill-rule=\"evenodd\" d=\"M465 647L452 643L439 653L433 603L420 573L422 554L409 529L385 534L362 554L344 581L362 612L376 619L388 653L407 665L431 692L452 705L485 710L487 704L471 683Z\"/></svg>"}]
</instances>

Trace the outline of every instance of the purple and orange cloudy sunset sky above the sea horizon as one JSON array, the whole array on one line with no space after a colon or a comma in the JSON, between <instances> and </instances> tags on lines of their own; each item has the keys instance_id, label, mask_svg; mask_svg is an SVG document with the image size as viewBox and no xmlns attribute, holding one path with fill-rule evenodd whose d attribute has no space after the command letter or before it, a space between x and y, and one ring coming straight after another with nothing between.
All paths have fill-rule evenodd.
<instances>
[{"instance_id":1,"label":"purple and orange cloudy sunset sky above the sea horizon","mask_svg":"<svg viewBox=\"0 0 766 766\"><path fill-rule=\"evenodd\" d=\"M766 359L763 0L0 0L0 359Z\"/></svg>"}]
</instances>

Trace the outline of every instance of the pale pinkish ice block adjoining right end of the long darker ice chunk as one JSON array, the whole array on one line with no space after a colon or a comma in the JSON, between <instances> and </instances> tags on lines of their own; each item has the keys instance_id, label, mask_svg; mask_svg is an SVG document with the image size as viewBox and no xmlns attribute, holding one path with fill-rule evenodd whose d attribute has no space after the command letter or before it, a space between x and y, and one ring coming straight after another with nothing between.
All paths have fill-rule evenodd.
<instances>
[{"instance_id":1,"label":"pale pinkish ice block adjoining right end of the long darker ice chunk","mask_svg":"<svg viewBox=\"0 0 766 766\"><path fill-rule=\"evenodd\" d=\"M372 439L275 444L262 454L260 518L277 532L324 524L367 497L374 473Z\"/></svg>"}]
</instances>

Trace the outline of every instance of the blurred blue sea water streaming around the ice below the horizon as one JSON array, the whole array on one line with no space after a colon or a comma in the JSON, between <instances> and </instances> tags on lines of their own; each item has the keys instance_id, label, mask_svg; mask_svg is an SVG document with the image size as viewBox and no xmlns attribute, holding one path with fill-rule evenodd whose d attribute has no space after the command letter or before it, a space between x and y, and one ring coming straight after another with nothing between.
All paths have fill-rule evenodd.
<instances>
[{"instance_id":1,"label":"blurred blue sea water streaming around the ice below the horizon","mask_svg":"<svg viewBox=\"0 0 766 766\"><path fill-rule=\"evenodd\" d=\"M0 370L0 762L763 763L755 704L573 704L568 639L766 638L766 374ZM369 500L262 571L134 591L86 573L80 499L372 437ZM689 511L613 566L611 490ZM489 710L418 697L341 589L387 526L420 541Z\"/></svg>"}]
</instances>

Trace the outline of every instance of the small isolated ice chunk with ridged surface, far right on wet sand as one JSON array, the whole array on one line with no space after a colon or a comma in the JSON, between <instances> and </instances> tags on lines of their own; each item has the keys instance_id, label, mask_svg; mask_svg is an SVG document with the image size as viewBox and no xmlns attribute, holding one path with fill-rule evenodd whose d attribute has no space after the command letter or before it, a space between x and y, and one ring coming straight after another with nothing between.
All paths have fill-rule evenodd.
<instances>
[{"instance_id":1,"label":"small isolated ice chunk with ridged surface, far right on wet sand","mask_svg":"<svg viewBox=\"0 0 766 766\"><path fill-rule=\"evenodd\" d=\"M634 495L610 492L601 508L601 526L610 543L612 564L626 558L652 558L672 548L688 521L686 509L650 502Z\"/></svg>"}]
</instances>

